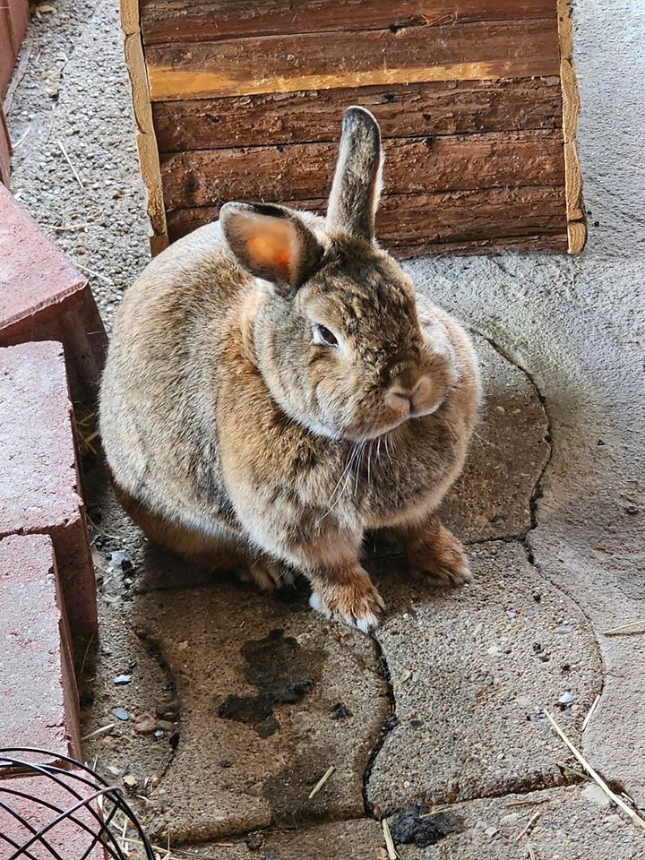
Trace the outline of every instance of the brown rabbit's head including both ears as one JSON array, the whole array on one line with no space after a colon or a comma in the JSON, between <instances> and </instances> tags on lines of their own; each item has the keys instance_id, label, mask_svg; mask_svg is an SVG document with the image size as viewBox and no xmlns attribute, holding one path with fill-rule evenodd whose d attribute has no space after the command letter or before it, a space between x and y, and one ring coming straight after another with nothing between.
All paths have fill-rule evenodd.
<instances>
[{"instance_id":1,"label":"brown rabbit's head including both ears","mask_svg":"<svg viewBox=\"0 0 645 860\"><path fill-rule=\"evenodd\" d=\"M327 218L227 203L220 222L262 290L254 353L281 408L316 434L363 440L427 415L455 382L452 347L428 340L408 276L374 243L378 125L349 107ZM432 341L432 342L431 342Z\"/></svg>"}]
</instances>

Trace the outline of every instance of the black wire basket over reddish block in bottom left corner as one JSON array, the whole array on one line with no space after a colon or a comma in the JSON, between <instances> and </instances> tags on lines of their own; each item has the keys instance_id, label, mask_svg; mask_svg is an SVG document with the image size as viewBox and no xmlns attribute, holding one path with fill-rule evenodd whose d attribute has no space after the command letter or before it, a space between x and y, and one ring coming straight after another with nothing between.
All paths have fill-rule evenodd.
<instances>
[{"instance_id":1,"label":"black wire basket over reddish block in bottom left corner","mask_svg":"<svg viewBox=\"0 0 645 860\"><path fill-rule=\"evenodd\" d=\"M0 748L0 860L133 856L155 860L120 787L64 755Z\"/></svg>"}]
</instances>

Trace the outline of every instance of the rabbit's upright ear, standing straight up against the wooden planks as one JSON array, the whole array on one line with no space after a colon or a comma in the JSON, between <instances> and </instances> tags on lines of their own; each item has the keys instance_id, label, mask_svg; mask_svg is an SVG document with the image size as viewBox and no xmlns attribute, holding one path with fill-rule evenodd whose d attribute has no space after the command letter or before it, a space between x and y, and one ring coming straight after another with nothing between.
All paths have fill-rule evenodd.
<instances>
[{"instance_id":1,"label":"rabbit's upright ear, standing straight up against the wooden planks","mask_svg":"<svg viewBox=\"0 0 645 860\"><path fill-rule=\"evenodd\" d=\"M340 150L327 226L374 240L374 218L381 196L383 151L374 116L364 107L348 107L343 115Z\"/></svg>"}]
</instances>

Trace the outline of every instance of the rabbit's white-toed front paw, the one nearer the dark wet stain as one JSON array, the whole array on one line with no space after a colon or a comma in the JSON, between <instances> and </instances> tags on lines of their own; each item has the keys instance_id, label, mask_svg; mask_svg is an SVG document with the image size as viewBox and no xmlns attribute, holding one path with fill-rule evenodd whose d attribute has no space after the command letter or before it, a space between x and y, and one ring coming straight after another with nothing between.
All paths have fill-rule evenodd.
<instances>
[{"instance_id":1,"label":"rabbit's white-toed front paw, the one nearer the dark wet stain","mask_svg":"<svg viewBox=\"0 0 645 860\"><path fill-rule=\"evenodd\" d=\"M316 581L309 605L326 618L368 633L379 624L385 604L365 571L348 573L342 582Z\"/></svg>"}]
</instances>

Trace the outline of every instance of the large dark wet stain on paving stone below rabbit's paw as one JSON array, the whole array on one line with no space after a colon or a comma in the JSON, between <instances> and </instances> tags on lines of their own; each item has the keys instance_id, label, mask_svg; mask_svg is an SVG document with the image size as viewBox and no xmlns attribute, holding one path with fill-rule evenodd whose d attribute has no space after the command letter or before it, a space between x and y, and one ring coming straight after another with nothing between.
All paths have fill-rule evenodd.
<instances>
[{"instance_id":1,"label":"large dark wet stain on paving stone below rabbit's paw","mask_svg":"<svg viewBox=\"0 0 645 860\"><path fill-rule=\"evenodd\" d=\"M245 679L257 688L257 695L231 693L219 704L219 717L254 726L258 735L269 737L280 728L274 707L295 704L312 689L320 678L323 652L301 648L278 629L245 642L240 653L246 661Z\"/></svg>"}]
</instances>

